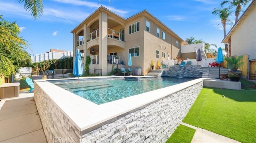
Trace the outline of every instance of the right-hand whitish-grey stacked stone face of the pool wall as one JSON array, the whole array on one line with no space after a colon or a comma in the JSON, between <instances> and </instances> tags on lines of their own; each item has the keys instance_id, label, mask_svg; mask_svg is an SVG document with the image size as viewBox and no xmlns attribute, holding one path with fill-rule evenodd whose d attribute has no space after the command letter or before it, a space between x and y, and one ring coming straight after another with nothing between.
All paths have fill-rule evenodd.
<instances>
[{"instance_id":1,"label":"right-hand whitish-grey stacked stone face of the pool wall","mask_svg":"<svg viewBox=\"0 0 256 143\"><path fill-rule=\"evenodd\" d=\"M165 143L182 122L203 86L184 90L82 131L82 143ZM136 102L136 101L134 101Z\"/></svg>"}]
</instances>

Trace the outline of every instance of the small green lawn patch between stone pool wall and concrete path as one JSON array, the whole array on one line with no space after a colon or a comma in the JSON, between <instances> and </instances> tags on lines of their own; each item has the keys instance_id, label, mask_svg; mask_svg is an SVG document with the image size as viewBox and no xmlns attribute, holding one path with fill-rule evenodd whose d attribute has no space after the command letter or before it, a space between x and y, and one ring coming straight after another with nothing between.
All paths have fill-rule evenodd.
<instances>
[{"instance_id":1,"label":"small green lawn patch between stone pool wall and concrete path","mask_svg":"<svg viewBox=\"0 0 256 143\"><path fill-rule=\"evenodd\" d=\"M195 132L195 129L179 125L166 143L190 143Z\"/></svg>"}]
</instances>

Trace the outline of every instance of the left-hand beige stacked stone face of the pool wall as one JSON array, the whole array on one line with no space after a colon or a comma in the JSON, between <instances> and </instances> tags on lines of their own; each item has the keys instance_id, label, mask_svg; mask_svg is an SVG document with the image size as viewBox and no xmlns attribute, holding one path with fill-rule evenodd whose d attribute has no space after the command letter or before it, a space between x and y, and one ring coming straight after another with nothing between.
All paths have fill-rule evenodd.
<instances>
[{"instance_id":1,"label":"left-hand beige stacked stone face of the pool wall","mask_svg":"<svg viewBox=\"0 0 256 143\"><path fill-rule=\"evenodd\" d=\"M34 100L48 143L80 142L80 129L34 82Z\"/></svg>"}]
</instances>

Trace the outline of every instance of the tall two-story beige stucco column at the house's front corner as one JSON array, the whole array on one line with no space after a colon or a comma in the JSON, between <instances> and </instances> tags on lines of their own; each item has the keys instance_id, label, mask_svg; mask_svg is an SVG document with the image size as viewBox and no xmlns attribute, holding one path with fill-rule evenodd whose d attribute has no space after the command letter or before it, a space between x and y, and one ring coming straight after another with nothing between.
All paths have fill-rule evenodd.
<instances>
[{"instance_id":1,"label":"tall two-story beige stucco column at the house's front corner","mask_svg":"<svg viewBox=\"0 0 256 143\"><path fill-rule=\"evenodd\" d=\"M100 13L99 18L99 29L100 29L100 39L99 39L99 54L100 54L100 68L102 69L102 75L108 72L108 14L105 12Z\"/></svg>"}]
</instances>

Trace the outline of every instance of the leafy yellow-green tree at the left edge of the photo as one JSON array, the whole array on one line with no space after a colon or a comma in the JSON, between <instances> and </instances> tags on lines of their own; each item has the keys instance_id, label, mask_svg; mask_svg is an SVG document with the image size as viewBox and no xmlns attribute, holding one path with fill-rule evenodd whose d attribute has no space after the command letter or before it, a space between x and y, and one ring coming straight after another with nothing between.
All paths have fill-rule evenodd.
<instances>
[{"instance_id":1,"label":"leafy yellow-green tree at the left edge of the photo","mask_svg":"<svg viewBox=\"0 0 256 143\"><path fill-rule=\"evenodd\" d=\"M26 41L18 37L20 28L16 22L8 22L0 15L0 73L10 76L30 60ZM29 62L29 61L28 61Z\"/></svg>"}]
</instances>

